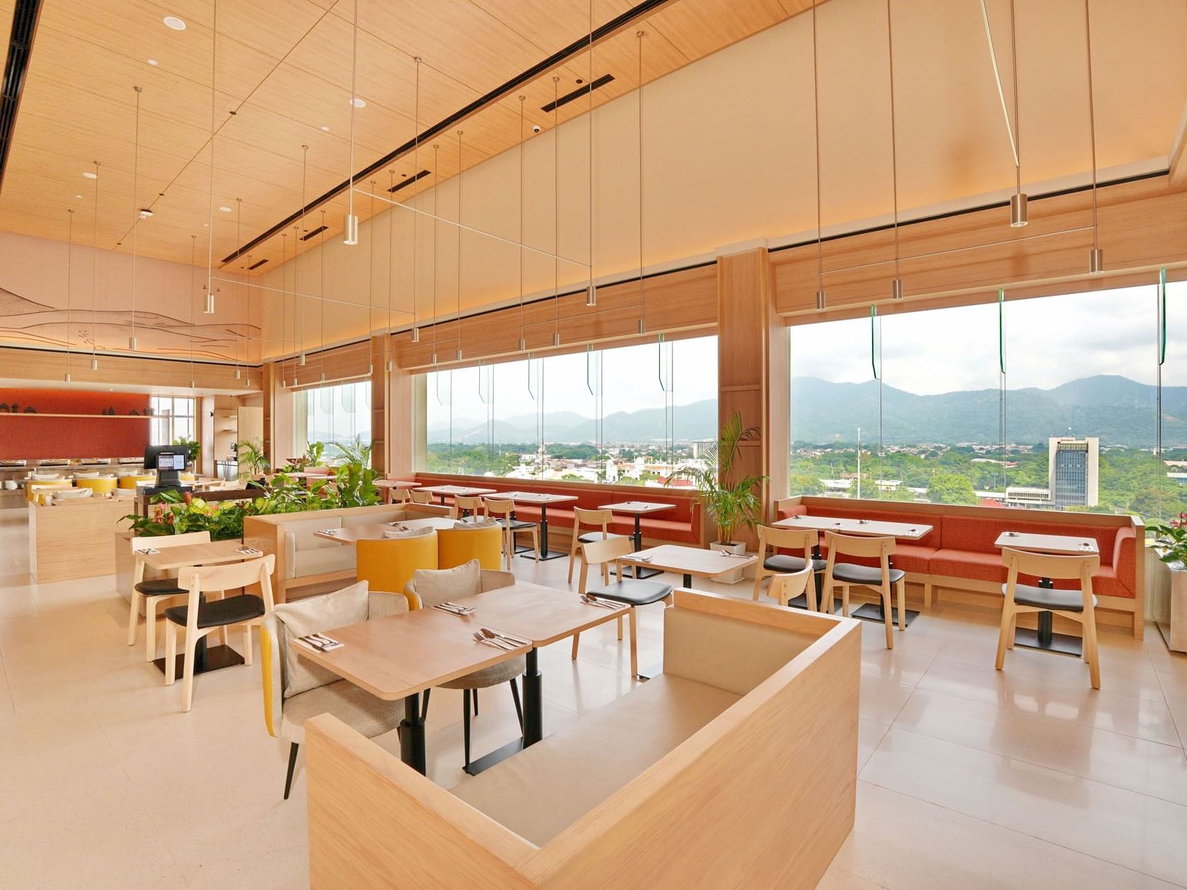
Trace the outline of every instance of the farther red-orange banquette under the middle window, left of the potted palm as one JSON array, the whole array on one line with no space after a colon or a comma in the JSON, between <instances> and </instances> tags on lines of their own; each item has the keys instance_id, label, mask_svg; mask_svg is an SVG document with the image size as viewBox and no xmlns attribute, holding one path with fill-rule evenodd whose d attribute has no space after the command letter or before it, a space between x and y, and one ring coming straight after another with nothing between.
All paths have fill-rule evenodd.
<instances>
[{"instance_id":1,"label":"farther red-orange banquette under the middle window, left of the potted palm","mask_svg":"<svg viewBox=\"0 0 1187 890\"><path fill-rule=\"evenodd\" d=\"M539 491L550 495L572 495L576 501L566 501L548 507L548 534L567 542L573 527L573 507L596 510L602 504L622 501L653 501L674 504L673 509L643 516L641 528L643 541L704 545L702 509L693 489L658 488L642 485L601 485L582 482L535 482L533 479L504 479L489 476L458 476L447 473L417 472L398 478L419 482L421 485L472 485L496 491ZM527 522L540 521L540 508L516 504L515 515ZM614 534L634 534L635 519L615 514L610 523ZM553 545L556 548L556 545Z\"/></svg>"}]
</instances>

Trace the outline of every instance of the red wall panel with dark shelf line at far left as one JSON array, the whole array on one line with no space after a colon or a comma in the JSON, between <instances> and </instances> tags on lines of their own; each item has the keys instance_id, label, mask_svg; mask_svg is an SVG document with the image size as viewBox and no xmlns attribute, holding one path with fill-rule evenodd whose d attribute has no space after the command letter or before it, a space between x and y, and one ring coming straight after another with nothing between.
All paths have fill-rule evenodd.
<instances>
[{"instance_id":1,"label":"red wall panel with dark shelf line at far left","mask_svg":"<svg viewBox=\"0 0 1187 890\"><path fill-rule=\"evenodd\" d=\"M140 457L151 436L148 405L148 396L141 393L0 389L0 460ZM40 417L104 411L114 411L116 417ZM146 419L132 418L133 411Z\"/></svg>"}]
</instances>

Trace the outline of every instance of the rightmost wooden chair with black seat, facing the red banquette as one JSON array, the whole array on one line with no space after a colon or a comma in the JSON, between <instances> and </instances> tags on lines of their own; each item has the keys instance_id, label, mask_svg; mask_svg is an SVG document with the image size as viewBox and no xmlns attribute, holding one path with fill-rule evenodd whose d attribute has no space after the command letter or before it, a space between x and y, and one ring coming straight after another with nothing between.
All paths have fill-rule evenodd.
<instances>
[{"instance_id":1,"label":"rightmost wooden chair with black seat, facing the red banquette","mask_svg":"<svg viewBox=\"0 0 1187 890\"><path fill-rule=\"evenodd\" d=\"M1053 612L1084 627L1084 661L1088 666L1088 679L1093 689L1100 688L1100 654L1097 647L1097 598L1092 593L1092 576L1100 571L1098 554L1085 557L1053 557L1046 553L1027 553L1005 547L1002 561L1009 574L1002 585L1002 629L997 637L998 670L1005 662L1005 650L1014 648L1014 631L1017 629L1018 612ZM1053 590L1018 584L1018 576L1028 574L1043 579L1079 579L1079 590Z\"/></svg>"}]
</instances>

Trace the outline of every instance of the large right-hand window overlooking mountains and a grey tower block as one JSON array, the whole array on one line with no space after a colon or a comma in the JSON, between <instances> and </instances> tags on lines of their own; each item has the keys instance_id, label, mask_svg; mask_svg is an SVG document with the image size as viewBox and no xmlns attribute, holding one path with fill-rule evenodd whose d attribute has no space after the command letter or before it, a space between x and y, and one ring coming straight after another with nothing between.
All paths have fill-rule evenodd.
<instances>
[{"instance_id":1,"label":"large right-hand window overlooking mountains and a grey tower block","mask_svg":"<svg viewBox=\"0 0 1187 890\"><path fill-rule=\"evenodd\" d=\"M1176 515L1183 330L1154 280L792 326L791 491Z\"/></svg>"}]
</instances>

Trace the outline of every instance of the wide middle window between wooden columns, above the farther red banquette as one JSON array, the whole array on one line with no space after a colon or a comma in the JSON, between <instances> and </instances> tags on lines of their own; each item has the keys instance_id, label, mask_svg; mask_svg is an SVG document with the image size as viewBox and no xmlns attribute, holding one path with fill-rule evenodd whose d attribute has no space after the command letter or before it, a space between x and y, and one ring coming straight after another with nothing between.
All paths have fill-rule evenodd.
<instances>
[{"instance_id":1,"label":"wide middle window between wooden columns, above the farther red banquette","mask_svg":"<svg viewBox=\"0 0 1187 890\"><path fill-rule=\"evenodd\" d=\"M716 337L425 376L431 472L661 484L717 436Z\"/></svg>"}]
</instances>

